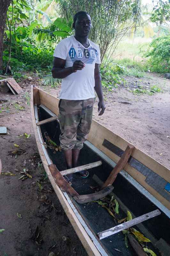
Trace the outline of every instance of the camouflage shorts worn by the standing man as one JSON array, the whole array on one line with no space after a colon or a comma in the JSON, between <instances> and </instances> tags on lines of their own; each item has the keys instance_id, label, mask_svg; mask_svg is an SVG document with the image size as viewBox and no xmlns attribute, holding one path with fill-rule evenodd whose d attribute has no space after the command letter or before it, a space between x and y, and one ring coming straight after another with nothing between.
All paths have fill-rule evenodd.
<instances>
[{"instance_id":1,"label":"camouflage shorts worn by the standing man","mask_svg":"<svg viewBox=\"0 0 170 256\"><path fill-rule=\"evenodd\" d=\"M94 98L59 101L60 146L63 150L83 147L91 127L93 105Z\"/></svg>"}]
</instances>

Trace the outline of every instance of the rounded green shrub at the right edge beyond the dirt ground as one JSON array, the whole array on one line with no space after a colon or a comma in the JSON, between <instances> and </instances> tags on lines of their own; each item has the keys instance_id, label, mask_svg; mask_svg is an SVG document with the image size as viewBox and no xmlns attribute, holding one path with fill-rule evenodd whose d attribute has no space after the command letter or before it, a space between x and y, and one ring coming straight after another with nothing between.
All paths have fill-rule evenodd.
<instances>
[{"instance_id":1,"label":"rounded green shrub at the right edge beyond the dirt ground","mask_svg":"<svg viewBox=\"0 0 170 256\"><path fill-rule=\"evenodd\" d=\"M149 57L148 62L151 71L158 73L170 72L170 35L154 39L144 55Z\"/></svg>"}]
</instances>

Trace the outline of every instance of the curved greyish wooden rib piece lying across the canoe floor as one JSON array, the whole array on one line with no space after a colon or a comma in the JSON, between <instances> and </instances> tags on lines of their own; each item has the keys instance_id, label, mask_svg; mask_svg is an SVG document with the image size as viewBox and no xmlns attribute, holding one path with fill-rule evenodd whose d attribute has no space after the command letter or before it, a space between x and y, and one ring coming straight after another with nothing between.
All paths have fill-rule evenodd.
<instances>
[{"instance_id":1,"label":"curved greyish wooden rib piece lying across the canoe floor","mask_svg":"<svg viewBox=\"0 0 170 256\"><path fill-rule=\"evenodd\" d=\"M79 204L85 204L85 203L89 203L91 201L95 201L95 200L98 200L100 198L103 198L103 197L109 195L113 189L114 189L114 187L112 185L110 185L96 193L92 193L89 195L73 196L73 199Z\"/></svg>"}]
</instances>

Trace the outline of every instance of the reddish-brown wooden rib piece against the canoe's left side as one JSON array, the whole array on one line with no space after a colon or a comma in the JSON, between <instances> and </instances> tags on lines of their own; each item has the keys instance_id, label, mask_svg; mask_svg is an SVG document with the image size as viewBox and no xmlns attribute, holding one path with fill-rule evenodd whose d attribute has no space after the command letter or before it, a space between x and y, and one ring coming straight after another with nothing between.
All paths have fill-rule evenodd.
<instances>
[{"instance_id":1,"label":"reddish-brown wooden rib piece against the canoe's left side","mask_svg":"<svg viewBox=\"0 0 170 256\"><path fill-rule=\"evenodd\" d=\"M56 168L55 164L49 165L50 172L57 183L57 185L64 191L69 193L71 196L78 196L79 194L68 184L68 182L63 178L61 173Z\"/></svg>"}]
</instances>

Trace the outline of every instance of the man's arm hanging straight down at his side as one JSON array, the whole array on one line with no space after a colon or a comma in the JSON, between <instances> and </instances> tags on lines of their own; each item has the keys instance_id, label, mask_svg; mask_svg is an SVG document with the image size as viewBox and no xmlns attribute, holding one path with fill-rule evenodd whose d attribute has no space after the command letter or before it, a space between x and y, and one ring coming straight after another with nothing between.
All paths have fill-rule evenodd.
<instances>
[{"instance_id":1,"label":"man's arm hanging straight down at his side","mask_svg":"<svg viewBox=\"0 0 170 256\"><path fill-rule=\"evenodd\" d=\"M104 110L105 110L105 104L104 104L104 99L103 99L103 92L102 92L102 79L100 76L100 69L99 69L99 64L95 64L95 91L97 93L97 96L99 98L99 103L98 103L98 112L99 116L103 115ZM101 110L100 110L101 109Z\"/></svg>"}]
</instances>

